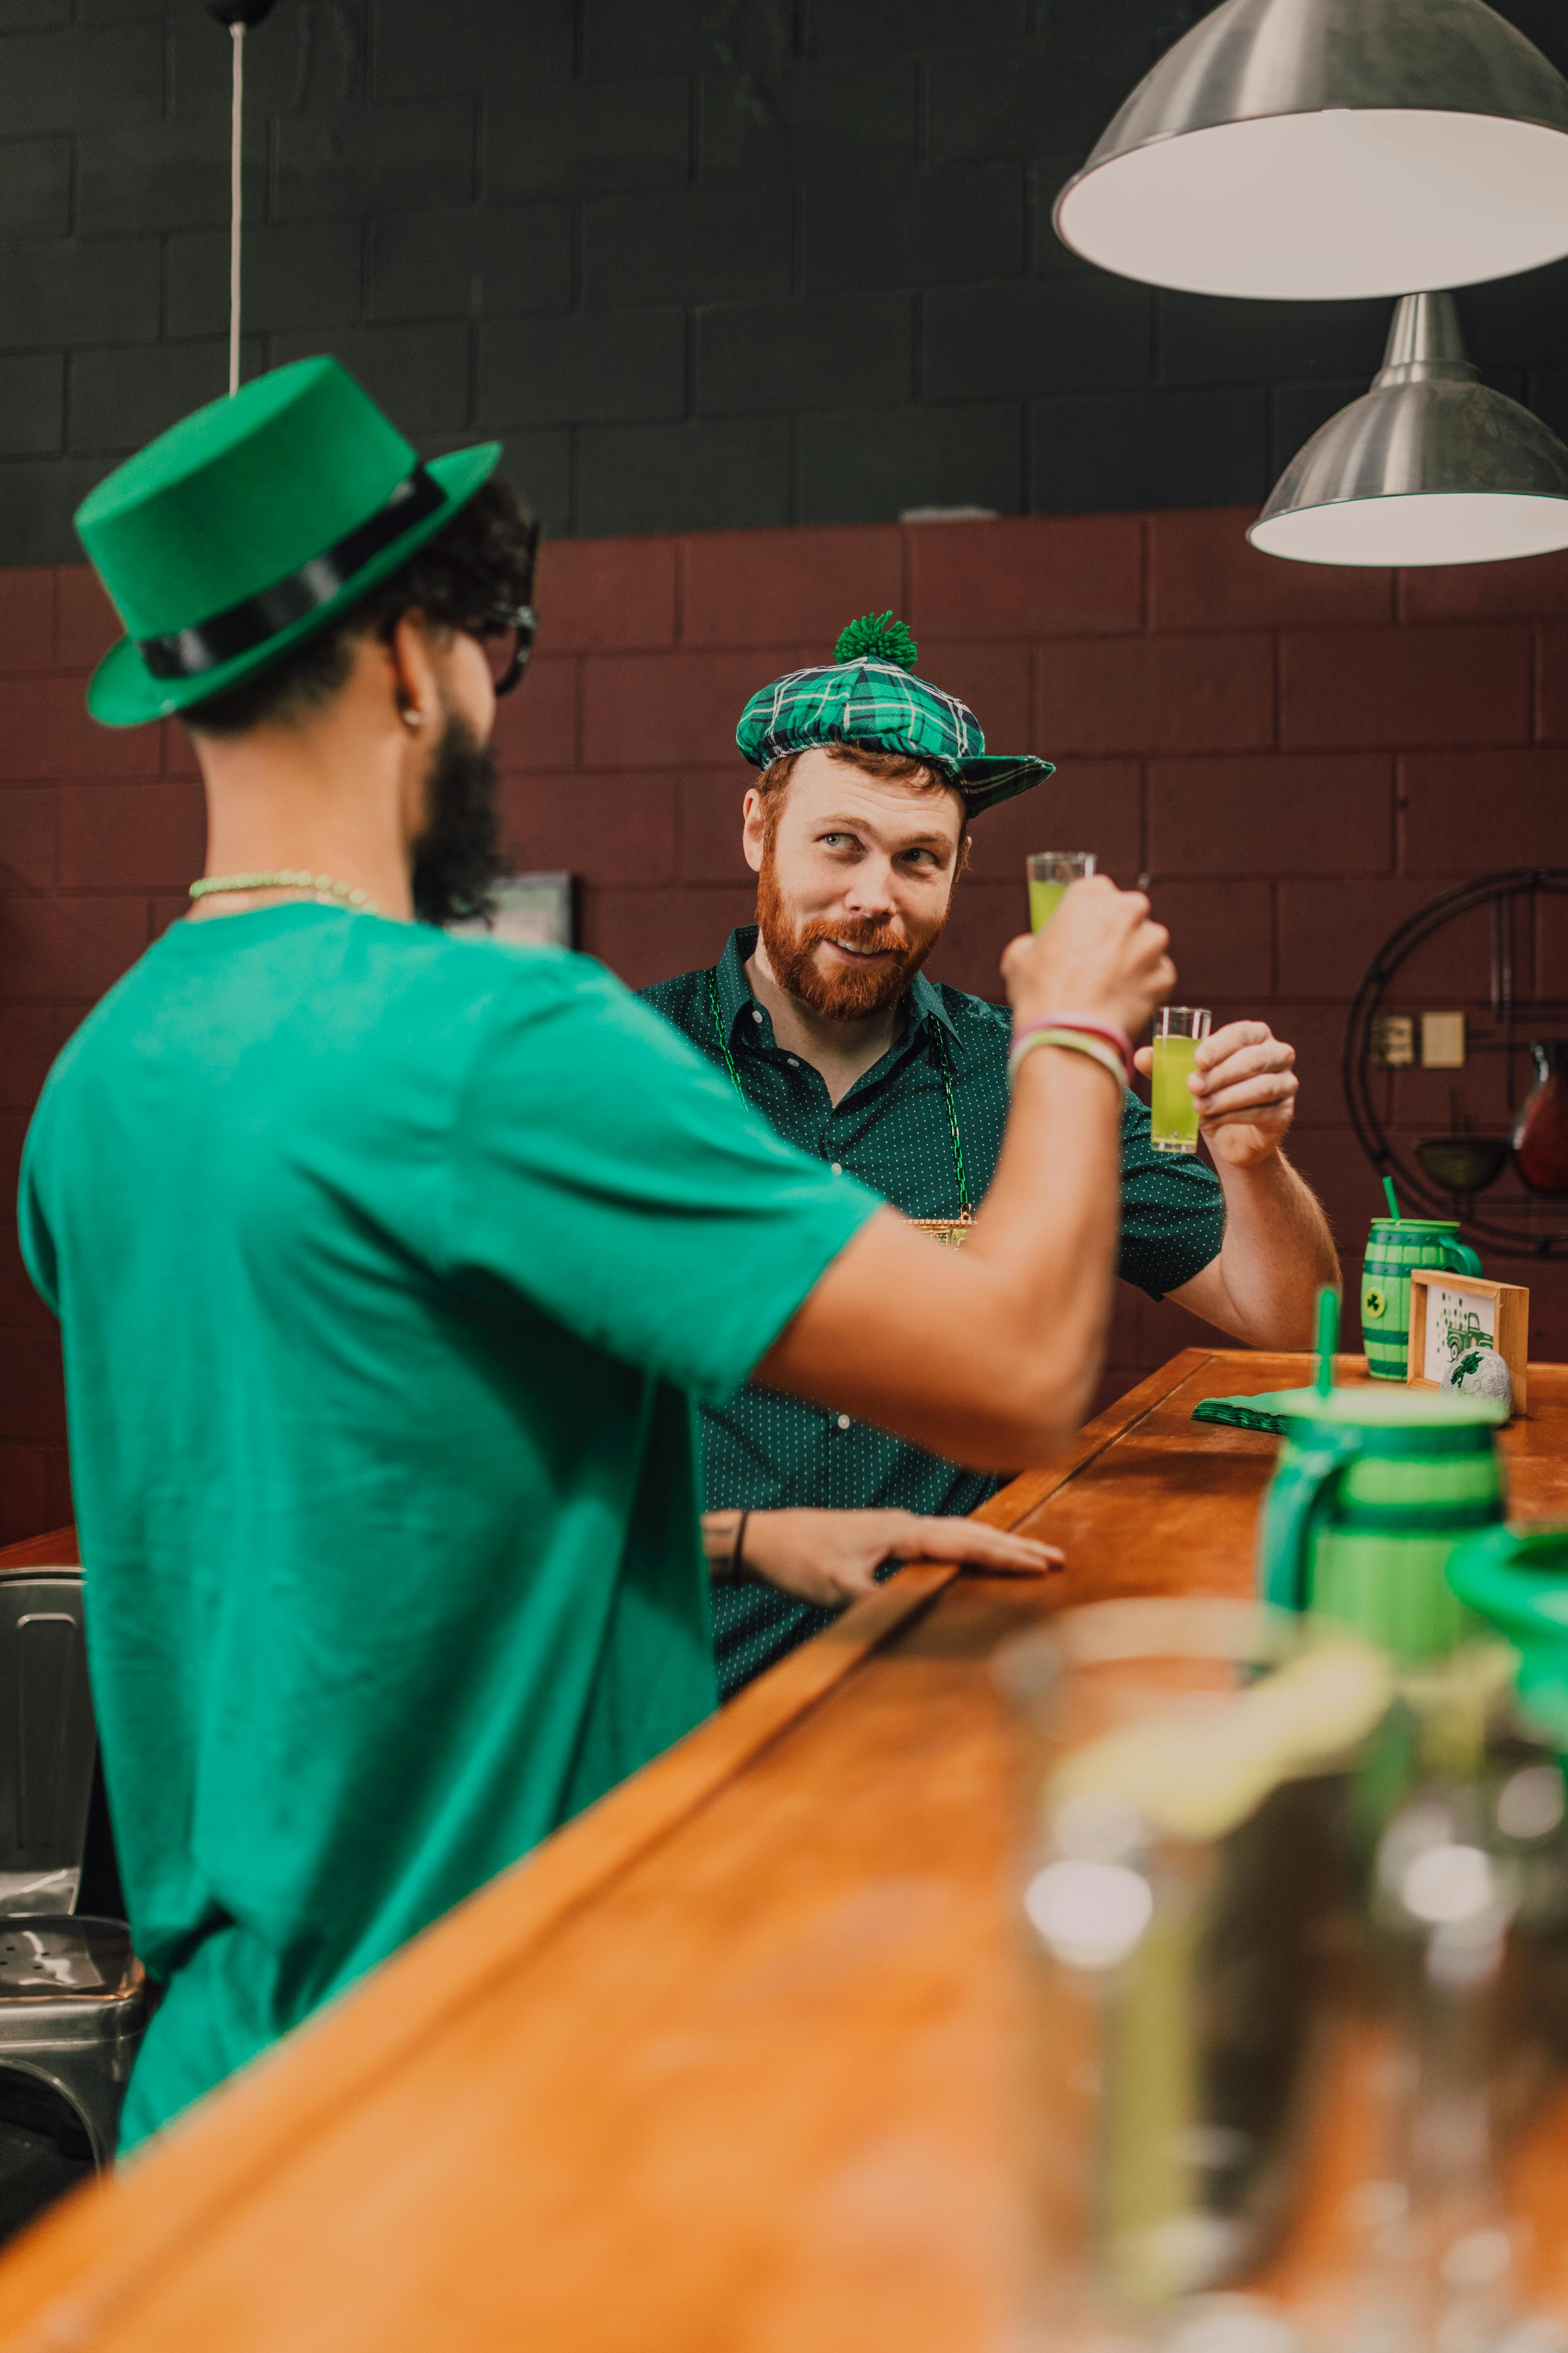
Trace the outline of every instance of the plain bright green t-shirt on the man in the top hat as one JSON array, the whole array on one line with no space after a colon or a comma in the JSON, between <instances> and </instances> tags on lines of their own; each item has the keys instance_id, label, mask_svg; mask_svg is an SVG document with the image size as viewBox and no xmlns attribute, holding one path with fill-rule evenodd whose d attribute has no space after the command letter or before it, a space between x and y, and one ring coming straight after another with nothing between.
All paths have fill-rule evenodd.
<instances>
[{"instance_id":1,"label":"plain bright green t-shirt on the man in the top hat","mask_svg":"<svg viewBox=\"0 0 1568 2353\"><path fill-rule=\"evenodd\" d=\"M595 962L176 925L21 1176L136 1951L122 2146L715 1699L689 1395L875 1212Z\"/></svg>"}]
</instances>

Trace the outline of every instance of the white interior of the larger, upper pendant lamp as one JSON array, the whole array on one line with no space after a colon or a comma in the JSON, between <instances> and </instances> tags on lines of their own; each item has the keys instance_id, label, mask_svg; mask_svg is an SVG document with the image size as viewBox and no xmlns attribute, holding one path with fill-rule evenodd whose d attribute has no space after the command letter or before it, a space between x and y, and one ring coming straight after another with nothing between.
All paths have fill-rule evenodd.
<instances>
[{"instance_id":1,"label":"white interior of the larger, upper pendant lamp","mask_svg":"<svg viewBox=\"0 0 1568 2353\"><path fill-rule=\"evenodd\" d=\"M1100 268L1194 294L1474 285L1568 252L1568 136L1403 108L1225 122L1100 165L1058 231Z\"/></svg>"}]
</instances>

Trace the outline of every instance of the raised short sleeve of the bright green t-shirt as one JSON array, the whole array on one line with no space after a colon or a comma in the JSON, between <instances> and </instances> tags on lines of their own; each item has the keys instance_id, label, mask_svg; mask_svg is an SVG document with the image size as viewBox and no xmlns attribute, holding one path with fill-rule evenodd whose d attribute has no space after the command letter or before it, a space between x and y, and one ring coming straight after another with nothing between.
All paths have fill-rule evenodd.
<instances>
[{"instance_id":1,"label":"raised short sleeve of the bright green t-shirt","mask_svg":"<svg viewBox=\"0 0 1568 2353\"><path fill-rule=\"evenodd\" d=\"M458 1118L454 1275L724 1398L879 1207L583 958L496 993Z\"/></svg>"}]
</instances>

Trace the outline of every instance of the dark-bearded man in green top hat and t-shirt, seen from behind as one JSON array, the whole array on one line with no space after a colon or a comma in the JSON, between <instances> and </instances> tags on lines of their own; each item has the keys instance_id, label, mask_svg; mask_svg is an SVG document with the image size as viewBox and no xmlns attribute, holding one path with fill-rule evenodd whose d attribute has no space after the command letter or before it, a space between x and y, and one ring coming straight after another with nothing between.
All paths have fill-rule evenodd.
<instances>
[{"instance_id":1,"label":"dark-bearded man in green top hat and t-shirt, seen from behind","mask_svg":"<svg viewBox=\"0 0 1568 2353\"><path fill-rule=\"evenodd\" d=\"M534 626L496 461L421 466L306 360L78 513L127 624L89 706L181 713L209 816L193 915L49 1075L19 1205L162 1988L122 2146L710 1711L693 1398L757 1374L1001 1468L1065 1442L1103 1351L1105 1038L1173 979L1138 894L1086 885L1009 951L964 1257L592 960L414 920L496 864Z\"/></svg>"}]
</instances>

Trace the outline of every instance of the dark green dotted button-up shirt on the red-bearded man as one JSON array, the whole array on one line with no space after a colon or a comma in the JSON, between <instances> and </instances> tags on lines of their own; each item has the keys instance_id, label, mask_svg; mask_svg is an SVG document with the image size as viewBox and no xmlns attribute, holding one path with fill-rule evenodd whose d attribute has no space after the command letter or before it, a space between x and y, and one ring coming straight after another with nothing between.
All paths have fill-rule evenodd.
<instances>
[{"instance_id":1,"label":"dark green dotted button-up shirt on the red-bearded man","mask_svg":"<svg viewBox=\"0 0 1568 2353\"><path fill-rule=\"evenodd\" d=\"M773 1024L755 1002L745 960L757 927L731 932L712 972L684 972L642 995L724 1068L719 1024L741 1089L804 1153L846 1169L905 1217L959 1217L959 1169L943 1059L952 1080L959 1151L976 1202L997 1169L1006 1125L1011 1014L959 988L914 979L905 1028L889 1054L835 1106L818 1071L773 1042ZM712 986L710 986L712 984ZM1157 1153L1150 1115L1128 1092L1121 1113L1121 1275L1161 1299L1180 1289L1225 1238L1220 1179L1206 1160ZM703 1407L708 1511L900 1508L966 1513L1001 1480L926 1454L849 1414L823 1412L769 1388L741 1388L726 1405ZM891 1572L891 1565L889 1565ZM719 1692L729 1699L806 1635L830 1612L790 1600L773 1586L715 1586Z\"/></svg>"}]
</instances>

